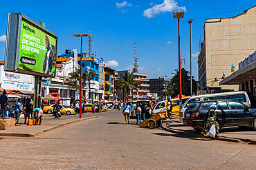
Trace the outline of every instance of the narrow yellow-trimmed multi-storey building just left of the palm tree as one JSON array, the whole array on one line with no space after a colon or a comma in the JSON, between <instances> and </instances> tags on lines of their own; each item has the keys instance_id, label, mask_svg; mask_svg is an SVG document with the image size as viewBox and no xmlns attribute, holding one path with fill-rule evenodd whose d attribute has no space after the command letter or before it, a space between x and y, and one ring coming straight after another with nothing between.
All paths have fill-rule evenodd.
<instances>
[{"instance_id":1,"label":"narrow yellow-trimmed multi-storey building just left of the palm tree","mask_svg":"<svg viewBox=\"0 0 256 170\"><path fill-rule=\"evenodd\" d=\"M114 97L114 79L113 75L116 70L105 67L100 63L100 87L104 89L104 99L113 100Z\"/></svg>"}]
</instances>

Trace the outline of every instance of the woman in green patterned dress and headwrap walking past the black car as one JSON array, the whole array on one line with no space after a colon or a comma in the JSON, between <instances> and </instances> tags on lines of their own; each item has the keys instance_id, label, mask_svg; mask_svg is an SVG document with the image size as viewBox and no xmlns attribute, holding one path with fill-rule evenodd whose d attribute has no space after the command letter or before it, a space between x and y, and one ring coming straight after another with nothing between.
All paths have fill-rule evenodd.
<instances>
[{"instance_id":1,"label":"woman in green patterned dress and headwrap walking past the black car","mask_svg":"<svg viewBox=\"0 0 256 170\"><path fill-rule=\"evenodd\" d=\"M201 132L203 140L205 139L205 136L207 136L212 125L214 125L215 129L216 129L215 138L219 138L219 125L216 121L216 115L217 115L217 113L215 112L216 109L217 109L217 105L215 105L215 104L210 105L210 109L209 109L208 113L206 113L206 115L205 115L206 125L205 125L205 129L203 129L203 131Z\"/></svg>"}]
</instances>

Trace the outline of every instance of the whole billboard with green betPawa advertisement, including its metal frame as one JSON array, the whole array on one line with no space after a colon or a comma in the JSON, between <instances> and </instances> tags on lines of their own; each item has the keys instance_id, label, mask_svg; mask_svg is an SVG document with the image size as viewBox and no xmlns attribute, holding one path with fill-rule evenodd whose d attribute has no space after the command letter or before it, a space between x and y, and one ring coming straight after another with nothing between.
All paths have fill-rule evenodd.
<instances>
[{"instance_id":1,"label":"whole billboard with green betPawa advertisement, including its metal frame","mask_svg":"<svg viewBox=\"0 0 256 170\"><path fill-rule=\"evenodd\" d=\"M55 76L57 35L21 13L8 13L4 69Z\"/></svg>"}]
</instances>

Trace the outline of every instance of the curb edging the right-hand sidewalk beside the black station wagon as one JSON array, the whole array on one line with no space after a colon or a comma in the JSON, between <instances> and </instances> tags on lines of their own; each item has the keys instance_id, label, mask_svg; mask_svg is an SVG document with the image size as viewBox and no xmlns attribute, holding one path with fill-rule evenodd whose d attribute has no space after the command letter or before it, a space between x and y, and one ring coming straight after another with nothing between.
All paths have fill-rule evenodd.
<instances>
[{"instance_id":1,"label":"curb edging the right-hand sidewalk beside the black station wagon","mask_svg":"<svg viewBox=\"0 0 256 170\"><path fill-rule=\"evenodd\" d=\"M188 131L168 128L168 127L166 127L165 124L163 124L161 127L165 131L169 131L169 132L172 132L174 134L179 134L179 135L188 136L188 137L201 138L200 134L192 134ZM221 136L221 138L217 138L216 140L222 140L222 141L226 141L226 142L247 142L248 144L256 145L256 140L249 140L249 139L243 139L243 138L229 138L229 137L226 137L226 136Z\"/></svg>"}]
</instances>

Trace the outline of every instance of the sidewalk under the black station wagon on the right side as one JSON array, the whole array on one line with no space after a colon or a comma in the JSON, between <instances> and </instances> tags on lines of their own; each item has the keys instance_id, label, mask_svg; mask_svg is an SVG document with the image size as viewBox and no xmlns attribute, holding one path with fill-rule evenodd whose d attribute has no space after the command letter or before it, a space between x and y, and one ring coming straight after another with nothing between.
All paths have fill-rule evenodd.
<instances>
[{"instance_id":1,"label":"sidewalk under the black station wagon on the right side","mask_svg":"<svg viewBox=\"0 0 256 170\"><path fill-rule=\"evenodd\" d=\"M201 134L190 126L179 123L178 120L172 120L171 123L163 123L163 129L175 134L183 136L201 138ZM226 140L229 142L248 142L256 145L256 131L252 128L245 127L223 127L219 130L221 138L218 140Z\"/></svg>"}]
</instances>

